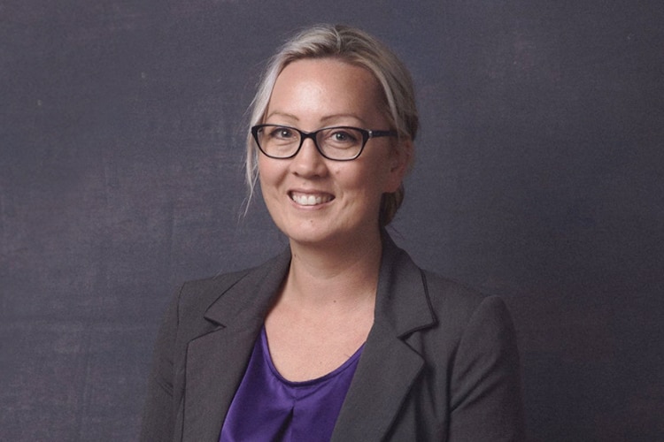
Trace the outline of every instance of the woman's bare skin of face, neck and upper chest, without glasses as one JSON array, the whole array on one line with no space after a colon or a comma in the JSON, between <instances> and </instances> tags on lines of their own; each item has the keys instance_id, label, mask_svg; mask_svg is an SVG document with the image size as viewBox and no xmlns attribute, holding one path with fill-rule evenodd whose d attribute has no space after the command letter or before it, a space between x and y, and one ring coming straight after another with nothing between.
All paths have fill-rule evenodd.
<instances>
[{"instance_id":1,"label":"woman's bare skin of face, neck and upper chest, without glasses","mask_svg":"<svg viewBox=\"0 0 664 442\"><path fill-rule=\"evenodd\" d=\"M279 75L265 122L306 132L327 126L389 129L377 81L334 58L299 60ZM259 156L263 199L290 239L289 275L266 331L283 377L307 380L343 364L367 339L380 267L381 196L405 175L411 145L375 138L349 162L328 160L306 140L294 158ZM297 195L320 197L315 205ZM296 196L294 200L294 196Z\"/></svg>"}]
</instances>

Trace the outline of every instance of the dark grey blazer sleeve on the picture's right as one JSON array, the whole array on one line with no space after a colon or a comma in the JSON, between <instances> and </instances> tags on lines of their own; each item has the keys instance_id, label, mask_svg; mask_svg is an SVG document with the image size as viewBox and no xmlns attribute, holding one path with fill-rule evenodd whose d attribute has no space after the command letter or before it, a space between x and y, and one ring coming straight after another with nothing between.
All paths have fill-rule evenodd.
<instances>
[{"instance_id":1,"label":"dark grey blazer sleeve on the picture's right","mask_svg":"<svg viewBox=\"0 0 664 442\"><path fill-rule=\"evenodd\" d=\"M484 298L454 358L451 441L520 441L524 436L521 370L512 319L498 297Z\"/></svg>"}]
</instances>

